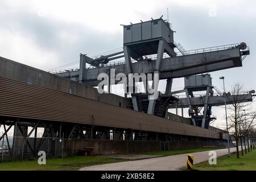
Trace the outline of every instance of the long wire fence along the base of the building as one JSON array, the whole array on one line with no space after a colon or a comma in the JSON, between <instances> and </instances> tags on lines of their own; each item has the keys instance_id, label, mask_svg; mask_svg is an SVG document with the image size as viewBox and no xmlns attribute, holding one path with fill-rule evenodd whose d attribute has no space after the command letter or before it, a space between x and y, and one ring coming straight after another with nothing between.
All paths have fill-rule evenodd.
<instances>
[{"instance_id":1,"label":"long wire fence along the base of the building","mask_svg":"<svg viewBox=\"0 0 256 182\"><path fill-rule=\"evenodd\" d=\"M169 141L156 140L109 140L109 139L67 139L67 138L33 138L3 137L0 140L1 162L39 158L39 151L46 158L67 155L108 155L159 150L180 150L203 146L225 147L224 140L205 141Z\"/></svg>"}]
</instances>

